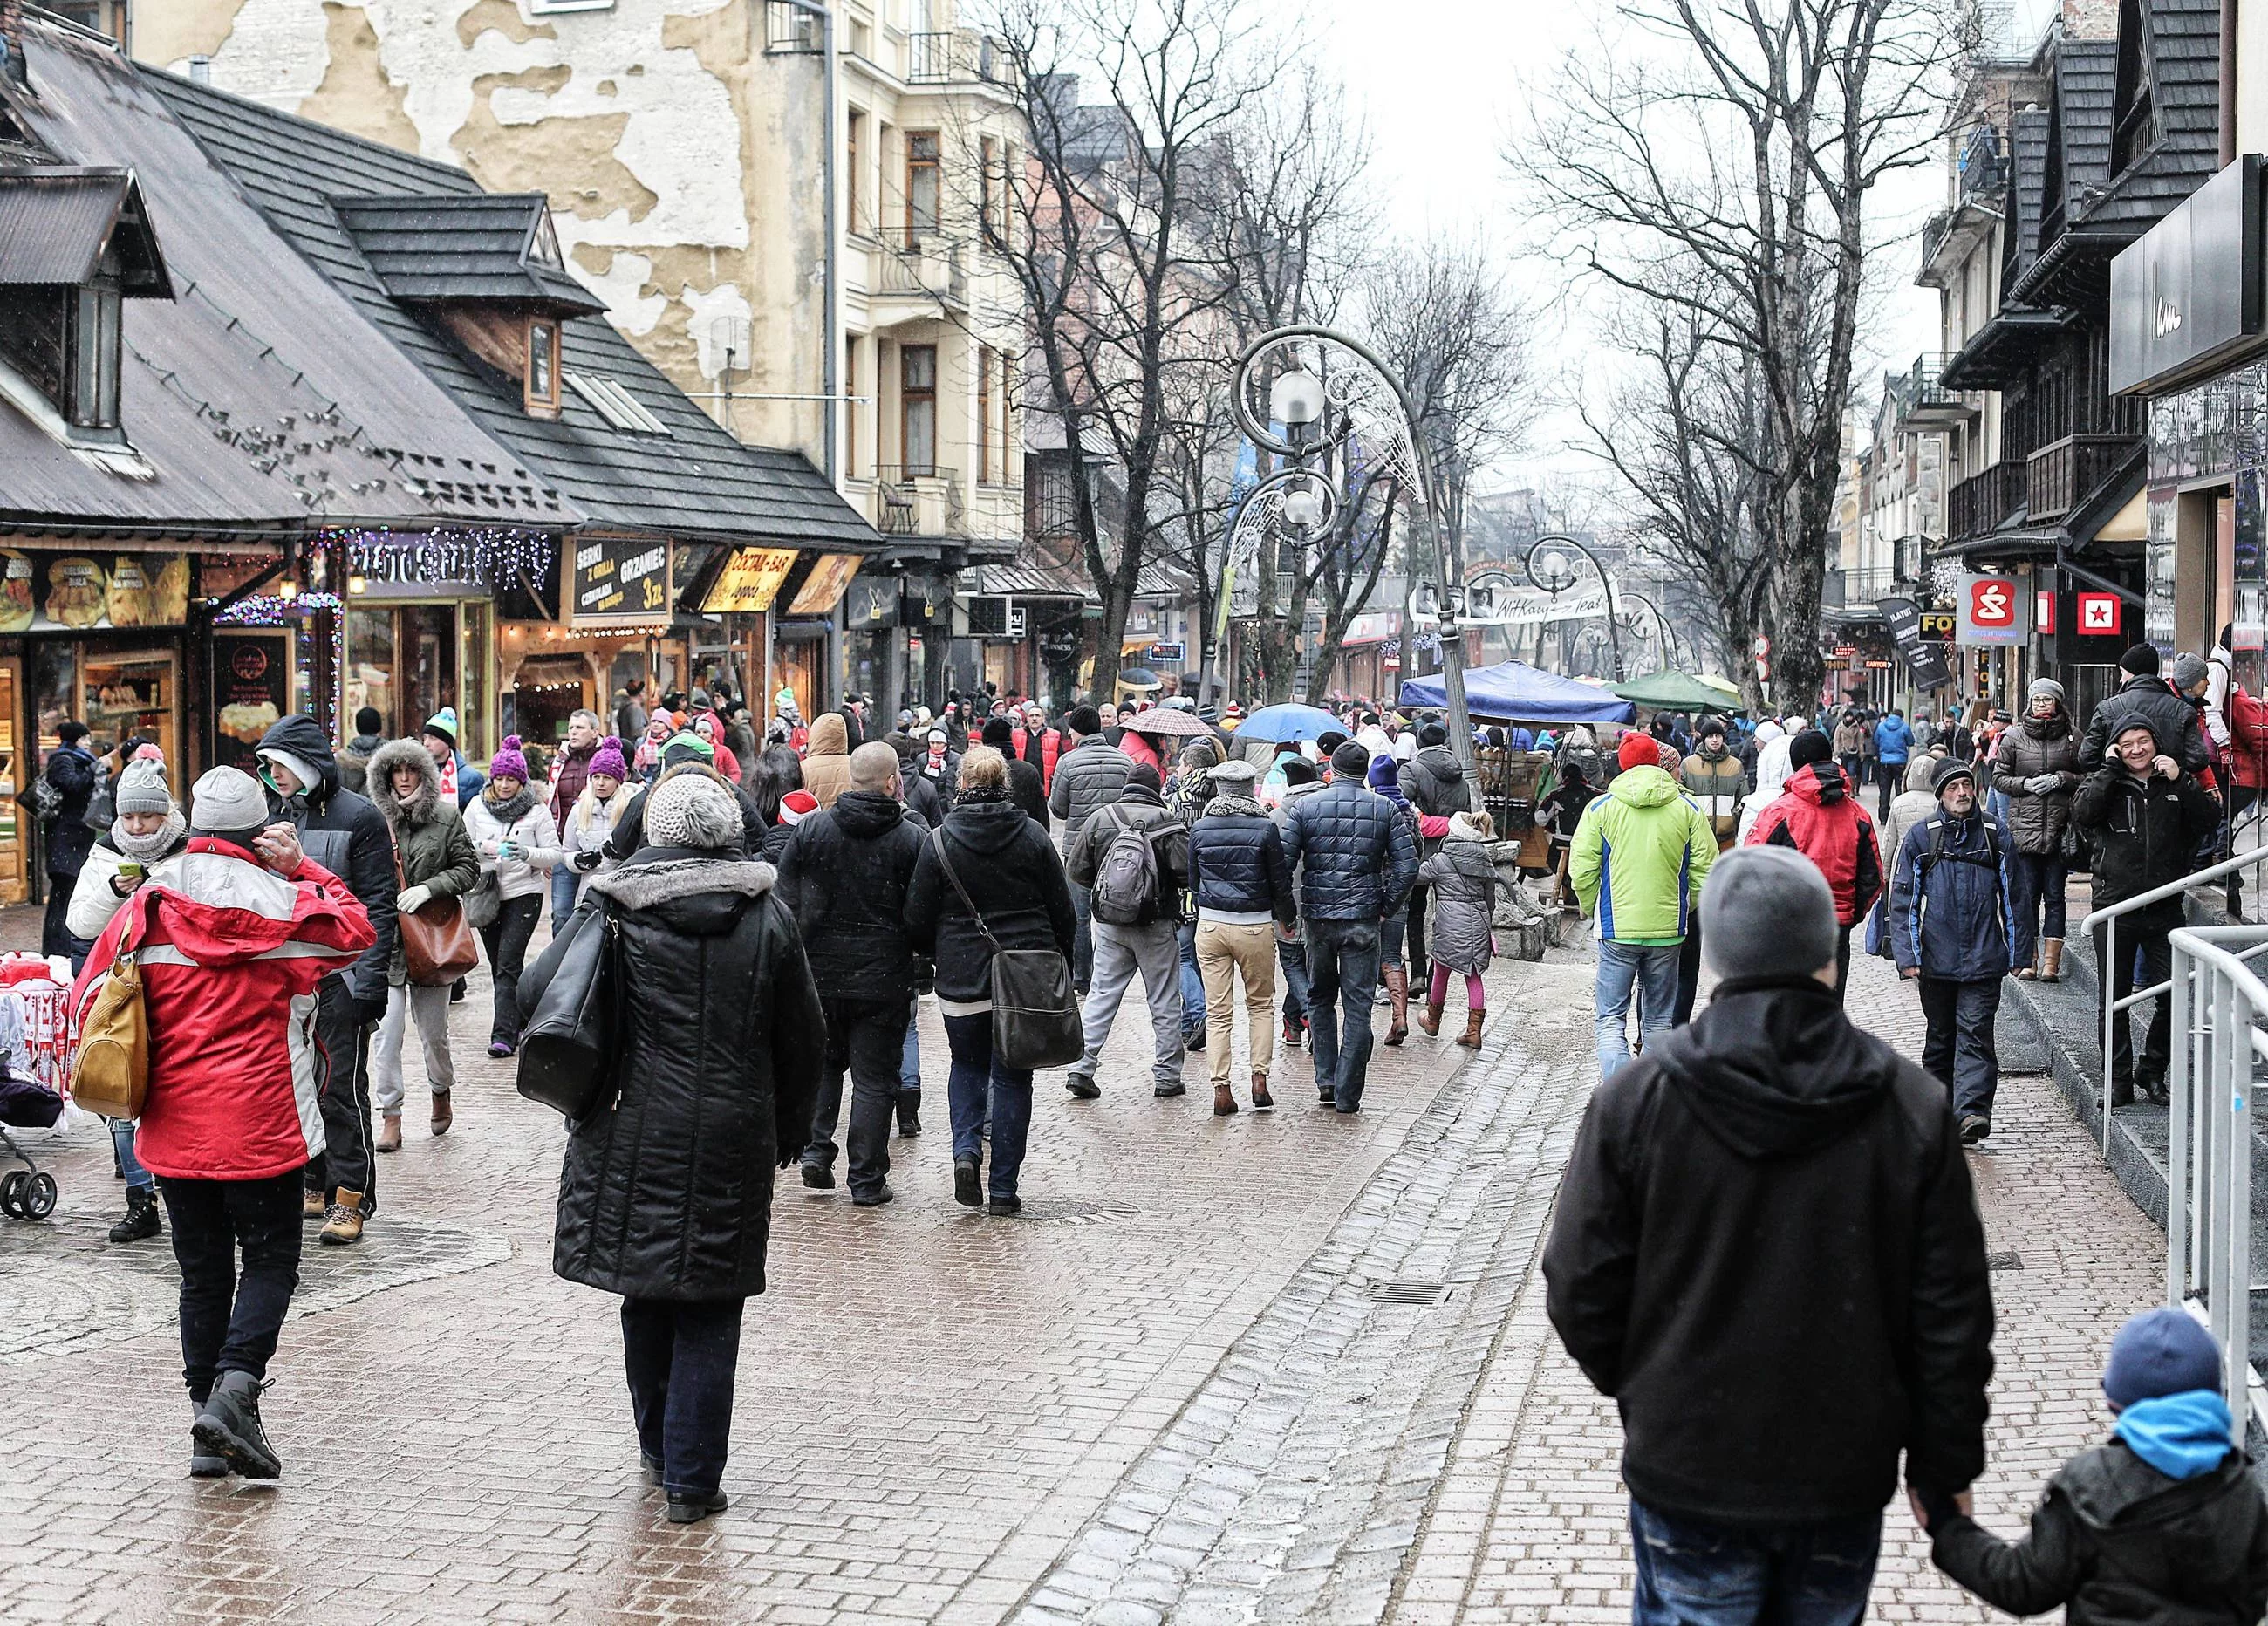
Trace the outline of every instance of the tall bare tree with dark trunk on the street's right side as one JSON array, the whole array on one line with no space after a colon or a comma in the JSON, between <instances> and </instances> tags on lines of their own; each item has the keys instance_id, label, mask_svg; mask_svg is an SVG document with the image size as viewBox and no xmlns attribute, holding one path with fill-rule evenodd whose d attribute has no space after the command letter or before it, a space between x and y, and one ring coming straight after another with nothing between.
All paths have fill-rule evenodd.
<instances>
[{"instance_id":1,"label":"tall bare tree with dark trunk on the street's right side","mask_svg":"<svg viewBox=\"0 0 2268 1626\"><path fill-rule=\"evenodd\" d=\"M1701 324L1760 404L1749 506L1780 692L1819 692L1869 197L1944 125L1955 9L1930 0L1628 0L1569 54L1510 156L1576 265Z\"/></svg>"}]
</instances>

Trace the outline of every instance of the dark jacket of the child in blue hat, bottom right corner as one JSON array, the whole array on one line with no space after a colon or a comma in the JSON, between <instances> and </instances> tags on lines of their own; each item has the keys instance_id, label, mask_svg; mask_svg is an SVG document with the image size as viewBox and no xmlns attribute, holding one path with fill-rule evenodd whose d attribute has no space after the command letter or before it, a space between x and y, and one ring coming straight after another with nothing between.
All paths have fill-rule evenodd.
<instances>
[{"instance_id":1,"label":"dark jacket of the child in blue hat, bottom right corner","mask_svg":"<svg viewBox=\"0 0 2268 1626\"><path fill-rule=\"evenodd\" d=\"M2268 1608L2268 1508L2243 1451L2168 1479L2112 1440L2048 1483L2023 1542L1950 1515L1930 1556L2009 1615L2066 1603L2068 1626L2257 1626Z\"/></svg>"}]
</instances>

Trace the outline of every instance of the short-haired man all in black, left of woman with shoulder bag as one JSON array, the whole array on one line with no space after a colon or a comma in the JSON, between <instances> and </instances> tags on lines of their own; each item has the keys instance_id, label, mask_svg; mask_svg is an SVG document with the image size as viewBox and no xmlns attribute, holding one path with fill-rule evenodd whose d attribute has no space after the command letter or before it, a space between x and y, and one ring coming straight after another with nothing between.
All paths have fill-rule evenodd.
<instances>
[{"instance_id":1,"label":"short-haired man all in black, left of woman with shoulder bag","mask_svg":"<svg viewBox=\"0 0 2268 1626\"><path fill-rule=\"evenodd\" d=\"M905 889L928 830L898 803L898 753L880 739L850 753L850 789L796 823L780 853L778 894L796 914L828 1014L828 1059L803 1147L803 1184L835 1186L835 1123L850 1070L850 1202L891 1200L889 1118L914 1005Z\"/></svg>"}]
</instances>

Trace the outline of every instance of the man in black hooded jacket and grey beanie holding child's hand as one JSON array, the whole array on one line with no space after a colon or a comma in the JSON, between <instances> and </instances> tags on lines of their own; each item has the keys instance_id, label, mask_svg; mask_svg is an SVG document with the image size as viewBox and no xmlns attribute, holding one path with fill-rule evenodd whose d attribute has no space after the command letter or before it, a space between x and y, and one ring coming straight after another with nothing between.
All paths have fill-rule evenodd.
<instances>
[{"instance_id":1,"label":"man in black hooded jacket and grey beanie holding child's hand","mask_svg":"<svg viewBox=\"0 0 2268 1626\"><path fill-rule=\"evenodd\" d=\"M1962 1508L1984 1467L1984 1231L1944 1086L1835 998L1821 873L1735 848L1701 912L1724 982L1592 1095L1547 1306L1622 1411L1633 1619L1855 1621L1901 1451Z\"/></svg>"}]
</instances>

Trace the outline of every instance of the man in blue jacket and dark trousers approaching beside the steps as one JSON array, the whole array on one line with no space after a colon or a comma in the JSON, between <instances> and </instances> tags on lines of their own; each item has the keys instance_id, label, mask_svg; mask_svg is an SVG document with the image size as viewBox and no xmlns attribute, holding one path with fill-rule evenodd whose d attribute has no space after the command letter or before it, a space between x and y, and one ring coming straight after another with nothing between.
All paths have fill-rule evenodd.
<instances>
[{"instance_id":1,"label":"man in blue jacket and dark trousers approaching beside the steps","mask_svg":"<svg viewBox=\"0 0 2268 1626\"><path fill-rule=\"evenodd\" d=\"M1991 1134L2000 1086L2000 977L2014 937L2007 832L1978 803L1978 771L1937 764L1937 816L1905 832L1892 862L1889 941L1916 984L1928 1036L1921 1066L1953 1095L1962 1145Z\"/></svg>"}]
</instances>

